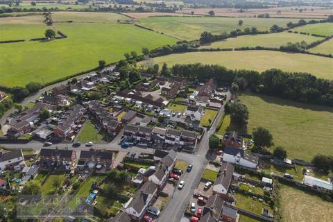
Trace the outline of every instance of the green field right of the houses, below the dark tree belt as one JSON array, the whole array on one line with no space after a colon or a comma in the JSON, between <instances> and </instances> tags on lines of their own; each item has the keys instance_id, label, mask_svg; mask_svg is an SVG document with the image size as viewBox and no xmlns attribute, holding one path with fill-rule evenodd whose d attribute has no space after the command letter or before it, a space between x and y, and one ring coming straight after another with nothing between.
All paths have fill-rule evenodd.
<instances>
[{"instance_id":1,"label":"green field right of the houses, below the dark tree belt","mask_svg":"<svg viewBox=\"0 0 333 222\"><path fill-rule=\"evenodd\" d=\"M309 161L318 153L333 155L333 108L255 94L240 99L250 113L248 133L258 126L267 128L275 146L284 146L290 158Z\"/></svg>"}]
</instances>

